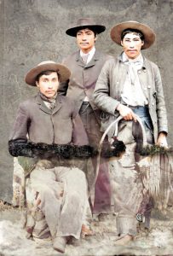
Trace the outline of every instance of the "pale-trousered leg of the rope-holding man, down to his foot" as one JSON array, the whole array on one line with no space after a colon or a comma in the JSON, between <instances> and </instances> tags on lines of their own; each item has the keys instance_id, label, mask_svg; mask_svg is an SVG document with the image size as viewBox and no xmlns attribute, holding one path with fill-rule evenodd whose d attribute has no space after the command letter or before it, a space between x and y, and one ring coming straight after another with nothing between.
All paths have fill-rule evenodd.
<instances>
[{"instance_id":1,"label":"pale-trousered leg of the rope-holding man, down to his foot","mask_svg":"<svg viewBox=\"0 0 173 256\"><path fill-rule=\"evenodd\" d=\"M136 172L136 142L132 135L132 122L123 121L118 129L118 140L125 143L126 152L120 160L111 160L109 166L118 235L123 237L124 243L136 236L136 212L142 200L142 186Z\"/></svg>"}]
</instances>

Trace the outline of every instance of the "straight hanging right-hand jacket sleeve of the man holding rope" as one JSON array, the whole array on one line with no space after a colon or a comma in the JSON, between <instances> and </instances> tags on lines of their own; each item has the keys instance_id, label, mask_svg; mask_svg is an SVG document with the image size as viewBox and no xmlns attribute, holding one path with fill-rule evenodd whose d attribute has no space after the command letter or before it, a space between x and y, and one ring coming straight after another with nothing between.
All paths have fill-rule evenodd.
<instances>
[{"instance_id":1,"label":"straight hanging right-hand jacket sleeve of the man holding rope","mask_svg":"<svg viewBox=\"0 0 173 256\"><path fill-rule=\"evenodd\" d=\"M154 68L154 77L155 77L155 86L156 86L156 112L158 119L158 131L168 132L168 121L167 121L167 113L164 102L164 90L162 86L162 79L159 72L159 67L155 65Z\"/></svg>"}]
</instances>

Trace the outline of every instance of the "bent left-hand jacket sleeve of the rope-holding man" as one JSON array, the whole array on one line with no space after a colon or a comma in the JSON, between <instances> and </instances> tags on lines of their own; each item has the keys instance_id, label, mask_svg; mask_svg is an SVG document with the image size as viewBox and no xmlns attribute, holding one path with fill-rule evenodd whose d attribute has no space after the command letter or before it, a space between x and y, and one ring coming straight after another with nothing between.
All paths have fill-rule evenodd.
<instances>
[{"instance_id":1,"label":"bent left-hand jacket sleeve of the rope-holding man","mask_svg":"<svg viewBox=\"0 0 173 256\"><path fill-rule=\"evenodd\" d=\"M106 61L101 69L99 78L95 84L93 100L98 108L107 113L115 113L118 101L110 96L110 81L113 72L114 59Z\"/></svg>"}]
</instances>

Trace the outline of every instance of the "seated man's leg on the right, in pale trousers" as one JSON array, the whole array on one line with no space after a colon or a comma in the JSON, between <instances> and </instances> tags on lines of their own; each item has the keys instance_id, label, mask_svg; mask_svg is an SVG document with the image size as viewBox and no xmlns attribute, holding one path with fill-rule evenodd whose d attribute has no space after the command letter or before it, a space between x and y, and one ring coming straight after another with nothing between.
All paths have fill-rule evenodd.
<instances>
[{"instance_id":1,"label":"seated man's leg on the right, in pale trousers","mask_svg":"<svg viewBox=\"0 0 173 256\"><path fill-rule=\"evenodd\" d=\"M63 206L56 236L80 237L88 201L84 172L78 168L55 167L56 178L64 183Z\"/></svg>"}]
</instances>

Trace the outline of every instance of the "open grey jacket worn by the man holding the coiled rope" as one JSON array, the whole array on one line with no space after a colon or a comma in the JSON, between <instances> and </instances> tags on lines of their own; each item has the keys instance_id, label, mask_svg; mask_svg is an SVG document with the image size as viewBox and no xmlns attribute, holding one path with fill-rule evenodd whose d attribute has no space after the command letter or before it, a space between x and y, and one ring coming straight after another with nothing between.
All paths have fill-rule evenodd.
<instances>
[{"instance_id":1,"label":"open grey jacket worn by the man holding the coiled rope","mask_svg":"<svg viewBox=\"0 0 173 256\"><path fill-rule=\"evenodd\" d=\"M98 108L106 113L118 117L119 102L128 73L128 66L124 65L121 55L108 60L101 70L94 91L94 102ZM161 131L168 131L167 115L164 102L164 91L159 73L159 67L152 61L144 58L143 67L138 71L141 89L147 97L149 113L153 122L155 142Z\"/></svg>"}]
</instances>

